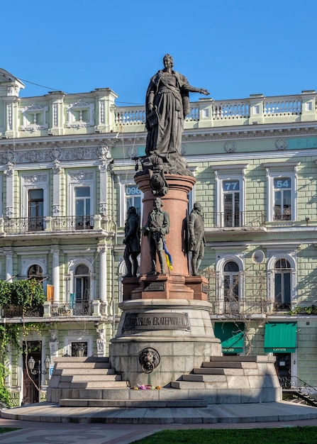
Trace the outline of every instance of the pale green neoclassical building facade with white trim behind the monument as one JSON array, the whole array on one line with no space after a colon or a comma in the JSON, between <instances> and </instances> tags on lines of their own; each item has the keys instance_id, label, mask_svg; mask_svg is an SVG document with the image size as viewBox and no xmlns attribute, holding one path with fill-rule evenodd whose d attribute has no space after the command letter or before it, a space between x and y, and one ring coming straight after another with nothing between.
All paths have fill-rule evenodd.
<instances>
[{"instance_id":1,"label":"pale green neoclassical building facade with white trim behind the monument","mask_svg":"<svg viewBox=\"0 0 317 444\"><path fill-rule=\"evenodd\" d=\"M126 211L142 214L145 109L116 106L109 88L23 88L0 70L0 279L35 277L46 301L36 316L2 308L0 323L36 324L26 343L42 362L104 356L120 318ZM182 155L196 179L189 211L204 210L201 269L223 353L273 353L282 377L317 387L316 91L192 102ZM5 358L16 405L37 400L20 339Z\"/></svg>"}]
</instances>

